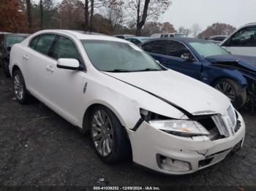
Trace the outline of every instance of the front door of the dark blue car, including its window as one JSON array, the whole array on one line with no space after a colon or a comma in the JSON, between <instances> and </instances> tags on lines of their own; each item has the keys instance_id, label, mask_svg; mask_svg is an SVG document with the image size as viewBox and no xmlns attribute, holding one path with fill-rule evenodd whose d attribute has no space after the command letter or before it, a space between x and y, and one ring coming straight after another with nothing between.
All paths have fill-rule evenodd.
<instances>
[{"instance_id":1,"label":"front door of the dark blue car, including its window","mask_svg":"<svg viewBox=\"0 0 256 191\"><path fill-rule=\"evenodd\" d=\"M181 58L182 55L190 59ZM165 49L165 57L161 62L165 67L186 74L189 77L200 79L201 63L192 52L181 42L169 40Z\"/></svg>"}]
</instances>

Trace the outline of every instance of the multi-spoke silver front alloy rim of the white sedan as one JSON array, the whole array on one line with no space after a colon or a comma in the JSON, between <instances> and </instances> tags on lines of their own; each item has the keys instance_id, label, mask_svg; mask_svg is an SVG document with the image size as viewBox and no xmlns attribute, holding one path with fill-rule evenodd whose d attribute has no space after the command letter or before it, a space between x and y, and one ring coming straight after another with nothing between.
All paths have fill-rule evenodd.
<instances>
[{"instance_id":1,"label":"multi-spoke silver front alloy rim of the white sedan","mask_svg":"<svg viewBox=\"0 0 256 191\"><path fill-rule=\"evenodd\" d=\"M99 155L107 157L113 148L113 128L110 117L103 110L97 110L92 118L91 133Z\"/></svg>"}]
</instances>

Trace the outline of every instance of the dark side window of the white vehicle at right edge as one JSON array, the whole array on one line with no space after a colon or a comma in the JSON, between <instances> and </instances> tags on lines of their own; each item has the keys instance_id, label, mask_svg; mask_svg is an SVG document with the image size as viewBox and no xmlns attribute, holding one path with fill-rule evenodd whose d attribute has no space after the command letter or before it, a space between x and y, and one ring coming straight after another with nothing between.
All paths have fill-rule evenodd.
<instances>
[{"instance_id":1,"label":"dark side window of the white vehicle at right edge","mask_svg":"<svg viewBox=\"0 0 256 191\"><path fill-rule=\"evenodd\" d=\"M256 47L256 27L241 29L233 34L223 46Z\"/></svg>"}]
</instances>

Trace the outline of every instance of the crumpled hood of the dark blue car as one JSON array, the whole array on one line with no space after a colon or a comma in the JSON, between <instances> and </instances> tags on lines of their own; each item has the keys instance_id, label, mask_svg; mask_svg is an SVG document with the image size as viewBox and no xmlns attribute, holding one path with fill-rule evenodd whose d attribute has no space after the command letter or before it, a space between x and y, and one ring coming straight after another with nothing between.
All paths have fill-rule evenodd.
<instances>
[{"instance_id":1,"label":"crumpled hood of the dark blue car","mask_svg":"<svg viewBox=\"0 0 256 191\"><path fill-rule=\"evenodd\" d=\"M246 55L214 55L206 57L212 64L256 72L256 57Z\"/></svg>"}]
</instances>

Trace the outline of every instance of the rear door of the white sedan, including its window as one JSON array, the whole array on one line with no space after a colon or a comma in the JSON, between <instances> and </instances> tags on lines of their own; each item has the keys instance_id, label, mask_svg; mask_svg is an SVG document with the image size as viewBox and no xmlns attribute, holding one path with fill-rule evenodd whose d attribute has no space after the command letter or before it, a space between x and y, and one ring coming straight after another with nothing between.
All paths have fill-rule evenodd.
<instances>
[{"instance_id":1,"label":"rear door of the white sedan, including its window","mask_svg":"<svg viewBox=\"0 0 256 191\"><path fill-rule=\"evenodd\" d=\"M23 52L22 63L26 87L41 101L45 98L45 69L53 59L48 56L55 34L42 34L31 39L29 48Z\"/></svg>"}]
</instances>

